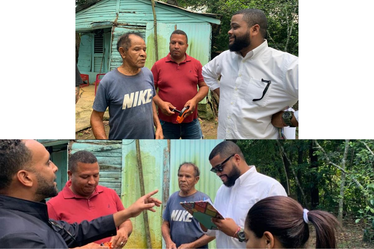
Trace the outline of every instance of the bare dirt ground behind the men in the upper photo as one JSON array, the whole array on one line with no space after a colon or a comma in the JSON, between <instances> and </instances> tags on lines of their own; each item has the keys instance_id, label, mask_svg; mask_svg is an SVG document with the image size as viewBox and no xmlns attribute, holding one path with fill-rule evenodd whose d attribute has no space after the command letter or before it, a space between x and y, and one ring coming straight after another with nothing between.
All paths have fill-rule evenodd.
<instances>
[{"instance_id":1,"label":"bare dirt ground behind the men in the upper photo","mask_svg":"<svg viewBox=\"0 0 374 249\"><path fill-rule=\"evenodd\" d=\"M202 130L203 135L204 135L204 139L217 139L218 121L216 121L214 119L210 119L210 120L204 120L204 119L201 119L201 118L199 118L199 119L200 119L201 130ZM103 121L103 123L104 123L105 133L108 136L108 134L109 134L109 121L105 120L105 121ZM95 139L95 137L93 136L91 127L87 128L85 130L76 132L75 138L76 139Z\"/></svg>"}]
</instances>

